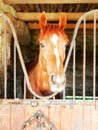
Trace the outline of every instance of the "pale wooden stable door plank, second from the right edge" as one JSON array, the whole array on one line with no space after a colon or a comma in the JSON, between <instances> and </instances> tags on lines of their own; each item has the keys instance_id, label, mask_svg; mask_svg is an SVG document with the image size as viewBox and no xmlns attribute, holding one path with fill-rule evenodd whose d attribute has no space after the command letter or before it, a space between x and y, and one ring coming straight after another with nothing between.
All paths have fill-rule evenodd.
<instances>
[{"instance_id":1,"label":"pale wooden stable door plank, second from the right edge","mask_svg":"<svg viewBox=\"0 0 98 130\"><path fill-rule=\"evenodd\" d=\"M91 105L84 105L84 130L93 130L92 129L92 108Z\"/></svg>"}]
</instances>

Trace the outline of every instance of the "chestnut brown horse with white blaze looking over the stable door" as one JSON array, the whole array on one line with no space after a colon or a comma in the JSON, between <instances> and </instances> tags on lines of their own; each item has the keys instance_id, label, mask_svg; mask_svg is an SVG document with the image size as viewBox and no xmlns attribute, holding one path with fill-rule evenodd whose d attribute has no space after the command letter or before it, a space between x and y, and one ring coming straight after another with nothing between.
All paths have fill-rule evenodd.
<instances>
[{"instance_id":1,"label":"chestnut brown horse with white blaze looking over the stable door","mask_svg":"<svg viewBox=\"0 0 98 130\"><path fill-rule=\"evenodd\" d=\"M39 24L39 57L37 64L28 71L28 76L33 91L40 96L46 96L61 92L65 87L63 62L68 43L64 33L66 18L61 14L59 24L47 24L46 15L42 13ZM27 98L31 98L29 91Z\"/></svg>"}]
</instances>

